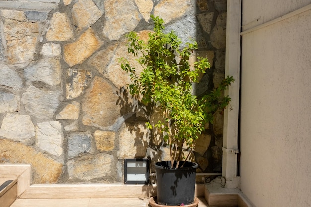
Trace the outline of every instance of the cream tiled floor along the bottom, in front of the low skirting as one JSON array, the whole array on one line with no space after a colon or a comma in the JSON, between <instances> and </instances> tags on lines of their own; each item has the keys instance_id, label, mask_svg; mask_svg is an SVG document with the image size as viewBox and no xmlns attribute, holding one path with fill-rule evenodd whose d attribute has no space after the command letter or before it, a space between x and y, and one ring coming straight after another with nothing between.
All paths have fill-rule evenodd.
<instances>
[{"instance_id":1,"label":"cream tiled floor along the bottom, in front of the low skirting","mask_svg":"<svg viewBox=\"0 0 311 207\"><path fill-rule=\"evenodd\" d=\"M148 207L148 199L102 198L102 199L17 199L10 207ZM199 198L199 207L208 207Z\"/></svg>"}]
</instances>

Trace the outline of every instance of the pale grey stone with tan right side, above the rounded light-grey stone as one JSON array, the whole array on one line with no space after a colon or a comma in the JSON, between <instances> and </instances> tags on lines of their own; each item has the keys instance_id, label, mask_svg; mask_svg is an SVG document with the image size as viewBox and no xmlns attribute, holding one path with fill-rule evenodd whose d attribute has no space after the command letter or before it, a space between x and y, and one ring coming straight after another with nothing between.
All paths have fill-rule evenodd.
<instances>
[{"instance_id":1,"label":"pale grey stone with tan right side, above the rounded light-grey stone","mask_svg":"<svg viewBox=\"0 0 311 207\"><path fill-rule=\"evenodd\" d=\"M41 81L48 85L61 83L61 64L53 58L40 59L32 66L24 69L24 75L28 82Z\"/></svg>"}]
</instances>

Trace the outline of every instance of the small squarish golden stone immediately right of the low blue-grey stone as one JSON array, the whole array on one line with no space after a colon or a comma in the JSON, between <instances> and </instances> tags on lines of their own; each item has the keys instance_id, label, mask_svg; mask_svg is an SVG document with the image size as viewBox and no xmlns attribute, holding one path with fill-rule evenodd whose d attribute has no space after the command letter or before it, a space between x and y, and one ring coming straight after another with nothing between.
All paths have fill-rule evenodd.
<instances>
[{"instance_id":1,"label":"small squarish golden stone immediately right of the low blue-grey stone","mask_svg":"<svg viewBox=\"0 0 311 207\"><path fill-rule=\"evenodd\" d=\"M114 149L115 132L96 130L94 137L98 151L112 151Z\"/></svg>"}]
</instances>

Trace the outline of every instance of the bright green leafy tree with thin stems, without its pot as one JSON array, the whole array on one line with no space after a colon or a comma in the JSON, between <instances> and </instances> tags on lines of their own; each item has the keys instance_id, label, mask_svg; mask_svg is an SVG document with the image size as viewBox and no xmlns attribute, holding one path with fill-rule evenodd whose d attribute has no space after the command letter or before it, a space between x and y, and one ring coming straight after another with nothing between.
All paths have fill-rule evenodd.
<instances>
[{"instance_id":1,"label":"bright green leafy tree with thin stems, without its pot","mask_svg":"<svg viewBox=\"0 0 311 207\"><path fill-rule=\"evenodd\" d=\"M207 58L197 57L197 62L191 68L189 57L198 49L196 42L186 43L180 48L181 40L174 31L163 33L164 21L151 16L154 21L154 32L149 33L149 39L144 42L136 32L128 34L128 52L137 57L143 66L138 74L126 58L121 58L121 68L131 79L128 86L130 94L151 108L160 108L164 119L152 125L163 135L164 141L170 146L172 167L179 166L183 157L184 144L191 150L198 135L205 130L206 123L213 123L213 114L223 110L230 102L230 97L223 96L224 90L234 81L233 77L225 78L222 83L210 93L200 98L193 95L192 83L199 82L199 76L210 68ZM175 162L176 161L176 162Z\"/></svg>"}]
</instances>

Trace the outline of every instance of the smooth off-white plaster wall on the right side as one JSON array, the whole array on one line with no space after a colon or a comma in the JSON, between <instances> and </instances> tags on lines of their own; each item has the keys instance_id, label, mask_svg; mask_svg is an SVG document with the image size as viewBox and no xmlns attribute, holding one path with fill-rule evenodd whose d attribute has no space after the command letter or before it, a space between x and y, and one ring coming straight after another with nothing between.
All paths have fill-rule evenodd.
<instances>
[{"instance_id":1,"label":"smooth off-white plaster wall on the right side","mask_svg":"<svg viewBox=\"0 0 311 207\"><path fill-rule=\"evenodd\" d=\"M240 106L244 194L256 207L310 207L311 10L242 36Z\"/></svg>"}]
</instances>

